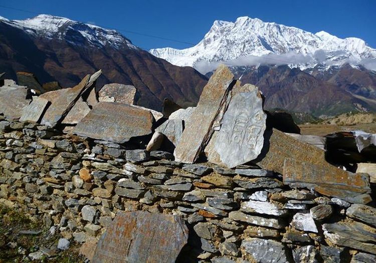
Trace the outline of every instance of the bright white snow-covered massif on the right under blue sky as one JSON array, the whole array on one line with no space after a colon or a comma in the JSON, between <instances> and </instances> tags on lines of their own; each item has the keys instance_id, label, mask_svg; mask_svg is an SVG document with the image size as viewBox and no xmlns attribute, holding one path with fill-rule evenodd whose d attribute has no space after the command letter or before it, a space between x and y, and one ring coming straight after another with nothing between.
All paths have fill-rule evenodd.
<instances>
[{"instance_id":1,"label":"bright white snow-covered massif on the right under blue sky","mask_svg":"<svg viewBox=\"0 0 376 263\"><path fill-rule=\"evenodd\" d=\"M328 69L348 63L376 70L376 49L361 39L340 39L323 31L313 34L249 17L240 17L234 23L215 21L194 47L159 48L150 53L174 65L193 66L204 74L215 69L218 63L230 66L287 64L302 70L317 65Z\"/></svg>"}]
</instances>

